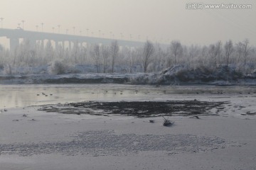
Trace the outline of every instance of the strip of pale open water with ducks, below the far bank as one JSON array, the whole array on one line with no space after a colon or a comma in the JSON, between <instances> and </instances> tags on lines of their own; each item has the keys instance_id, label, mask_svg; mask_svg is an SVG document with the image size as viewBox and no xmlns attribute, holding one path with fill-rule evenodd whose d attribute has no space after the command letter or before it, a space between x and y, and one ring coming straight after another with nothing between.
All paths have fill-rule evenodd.
<instances>
[{"instance_id":1,"label":"strip of pale open water with ducks, below the far bank","mask_svg":"<svg viewBox=\"0 0 256 170\"><path fill-rule=\"evenodd\" d=\"M0 109L78 101L138 101L196 94L256 93L254 87L139 86L120 84L0 85ZM45 94L45 95L43 95Z\"/></svg>"}]
</instances>

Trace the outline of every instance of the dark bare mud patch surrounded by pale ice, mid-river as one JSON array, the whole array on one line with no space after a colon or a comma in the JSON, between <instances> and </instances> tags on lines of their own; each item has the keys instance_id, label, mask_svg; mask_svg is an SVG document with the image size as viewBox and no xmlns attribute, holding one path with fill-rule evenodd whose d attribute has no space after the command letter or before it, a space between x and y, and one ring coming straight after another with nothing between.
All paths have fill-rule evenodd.
<instances>
[{"instance_id":1,"label":"dark bare mud patch surrounded by pale ice, mid-river","mask_svg":"<svg viewBox=\"0 0 256 170\"><path fill-rule=\"evenodd\" d=\"M39 111L63 114L128 115L138 118L164 115L218 115L227 101L119 101L65 103L41 106ZM218 112L213 112L215 108Z\"/></svg>"}]
</instances>

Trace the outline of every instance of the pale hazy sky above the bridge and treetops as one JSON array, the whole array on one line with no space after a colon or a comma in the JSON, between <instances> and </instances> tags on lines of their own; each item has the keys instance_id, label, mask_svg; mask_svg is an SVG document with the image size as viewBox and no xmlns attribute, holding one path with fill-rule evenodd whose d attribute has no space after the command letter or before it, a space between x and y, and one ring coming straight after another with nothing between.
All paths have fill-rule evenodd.
<instances>
[{"instance_id":1,"label":"pale hazy sky above the bridge and treetops","mask_svg":"<svg viewBox=\"0 0 256 170\"><path fill-rule=\"evenodd\" d=\"M188 3L252 4L251 9L186 9ZM255 0L0 0L3 28L114 38L208 45L218 40L244 40L256 45ZM1 25L0 25L1 26ZM22 26L22 23L21 23ZM100 30L100 32L99 32ZM1 42L3 42L1 38ZM0 42L0 43L1 43Z\"/></svg>"}]
</instances>

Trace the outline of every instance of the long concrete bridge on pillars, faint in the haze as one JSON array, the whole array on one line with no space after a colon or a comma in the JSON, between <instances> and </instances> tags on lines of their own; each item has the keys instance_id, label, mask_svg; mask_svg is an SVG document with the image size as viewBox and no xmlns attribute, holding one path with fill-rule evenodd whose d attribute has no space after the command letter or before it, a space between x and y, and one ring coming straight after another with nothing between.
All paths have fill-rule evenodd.
<instances>
[{"instance_id":1,"label":"long concrete bridge on pillars, faint in the haze","mask_svg":"<svg viewBox=\"0 0 256 170\"><path fill-rule=\"evenodd\" d=\"M68 42L69 49L71 49L72 43L86 43L88 44L102 44L110 45L113 39L109 38L95 38L89 36L80 36L80 35L66 35L58 33L43 33L30 30L19 29L4 29L0 28L0 37L6 37L10 40L10 51L14 51L19 45L19 39L29 40L31 47L36 47L36 42L44 40L51 40L55 42L55 45L62 43L62 46L65 48L65 42ZM129 41L129 40L117 40L119 46L127 47L139 47L144 45L144 42Z\"/></svg>"}]
</instances>

